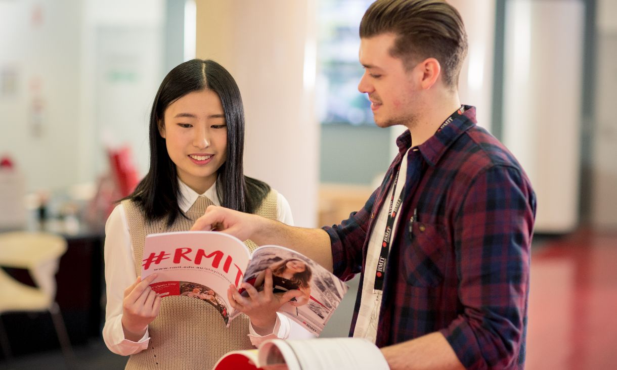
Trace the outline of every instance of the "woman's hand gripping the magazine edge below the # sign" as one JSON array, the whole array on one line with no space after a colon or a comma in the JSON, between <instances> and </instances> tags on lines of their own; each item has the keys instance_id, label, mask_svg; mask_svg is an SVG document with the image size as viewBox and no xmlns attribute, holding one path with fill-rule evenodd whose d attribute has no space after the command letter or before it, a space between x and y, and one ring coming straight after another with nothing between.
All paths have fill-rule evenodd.
<instances>
[{"instance_id":1,"label":"woman's hand gripping the magazine edge below the # sign","mask_svg":"<svg viewBox=\"0 0 617 370\"><path fill-rule=\"evenodd\" d=\"M152 274L141 280L141 276L124 290L122 301L122 329L125 339L138 342L146 333L148 324L159 315L161 298L150 287L156 278Z\"/></svg>"}]
</instances>

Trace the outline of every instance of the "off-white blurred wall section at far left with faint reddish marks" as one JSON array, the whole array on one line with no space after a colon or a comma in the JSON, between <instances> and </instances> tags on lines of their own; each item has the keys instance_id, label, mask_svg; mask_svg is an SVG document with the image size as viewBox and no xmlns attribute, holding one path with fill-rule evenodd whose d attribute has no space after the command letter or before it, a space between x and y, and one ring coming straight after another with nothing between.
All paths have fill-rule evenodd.
<instances>
[{"instance_id":1,"label":"off-white blurred wall section at far left with faint reddish marks","mask_svg":"<svg viewBox=\"0 0 617 370\"><path fill-rule=\"evenodd\" d=\"M78 0L0 2L0 155L30 189L80 180Z\"/></svg>"}]
</instances>

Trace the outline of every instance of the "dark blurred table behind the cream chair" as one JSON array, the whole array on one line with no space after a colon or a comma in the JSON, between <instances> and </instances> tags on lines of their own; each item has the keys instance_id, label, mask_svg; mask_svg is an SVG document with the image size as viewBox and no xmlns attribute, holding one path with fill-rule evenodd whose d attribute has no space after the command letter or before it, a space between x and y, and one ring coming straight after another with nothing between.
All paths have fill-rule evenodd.
<instances>
[{"instance_id":1,"label":"dark blurred table behind the cream chair","mask_svg":"<svg viewBox=\"0 0 617 370\"><path fill-rule=\"evenodd\" d=\"M101 335L105 234L101 227L91 228L73 221L76 220L28 223L23 229L52 232L67 240L67 252L60 258L56 274L56 302L62 311L71 344L79 345ZM4 269L17 280L34 285L28 270ZM48 313L7 313L2 315L2 321L15 356L59 348Z\"/></svg>"}]
</instances>

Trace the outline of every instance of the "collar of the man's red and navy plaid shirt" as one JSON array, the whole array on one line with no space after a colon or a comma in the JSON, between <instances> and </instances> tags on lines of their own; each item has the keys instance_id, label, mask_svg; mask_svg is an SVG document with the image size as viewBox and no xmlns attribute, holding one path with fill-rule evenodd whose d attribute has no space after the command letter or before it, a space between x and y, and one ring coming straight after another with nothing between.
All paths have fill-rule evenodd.
<instances>
[{"instance_id":1,"label":"collar of the man's red and navy plaid shirt","mask_svg":"<svg viewBox=\"0 0 617 370\"><path fill-rule=\"evenodd\" d=\"M418 146L424 160L426 160L429 165L434 166L439 162L439 158L441 158L448 147L458 139L458 136L476 125L476 107L463 105L462 110L463 112L459 109L452 113L452 115L448 117L448 120L452 118L452 121L448 125L437 130L433 136ZM412 136L409 130L405 130L404 133L400 134L396 139L396 145L399 147L399 152L409 149L412 145Z\"/></svg>"}]
</instances>

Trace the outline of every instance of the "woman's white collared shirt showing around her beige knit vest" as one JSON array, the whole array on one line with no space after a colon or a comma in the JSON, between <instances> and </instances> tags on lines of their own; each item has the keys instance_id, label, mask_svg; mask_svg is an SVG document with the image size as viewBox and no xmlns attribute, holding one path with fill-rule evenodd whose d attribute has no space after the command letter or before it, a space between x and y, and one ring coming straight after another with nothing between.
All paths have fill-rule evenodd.
<instances>
[{"instance_id":1,"label":"woman's white collared shirt showing around her beige knit vest","mask_svg":"<svg viewBox=\"0 0 617 370\"><path fill-rule=\"evenodd\" d=\"M215 184L205 191L204 194L197 194L180 179L178 179L178 184L180 185L178 205L182 212L188 211L200 195L208 197L214 205L220 205ZM291 207L289 207L289 203L280 193L278 193L276 199L276 220L289 225L294 223ZM123 292L126 287L133 284L137 279L135 258L133 257L133 243L131 243L126 213L122 204L118 204L111 215L109 215L109 218L107 218L105 235L104 257L107 306L105 326L103 327L103 340L112 352L123 356L132 355L133 353L145 350L150 337L146 330L146 334L144 334L141 340L132 342L125 339L122 329ZM249 338L253 345L275 337L286 339L290 337L290 334L291 337L298 339L313 337L304 328L300 327L299 324L278 313L273 334L260 336L254 331L252 326L249 326Z\"/></svg>"}]
</instances>

